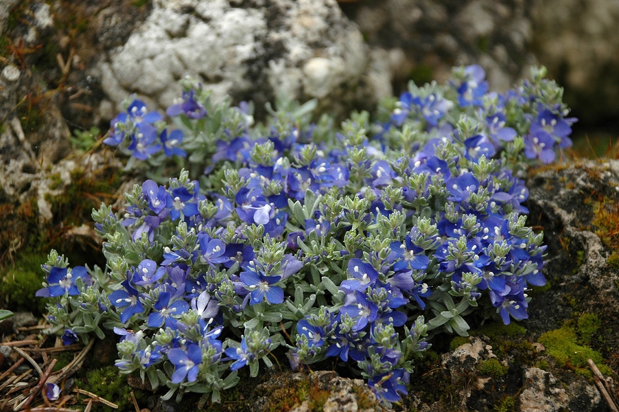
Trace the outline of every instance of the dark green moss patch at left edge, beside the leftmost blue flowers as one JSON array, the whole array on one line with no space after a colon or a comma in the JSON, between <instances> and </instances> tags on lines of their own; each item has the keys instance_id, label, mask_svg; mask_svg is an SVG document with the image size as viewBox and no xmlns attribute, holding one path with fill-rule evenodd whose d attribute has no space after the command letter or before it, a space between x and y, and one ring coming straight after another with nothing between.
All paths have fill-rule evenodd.
<instances>
[{"instance_id":1,"label":"dark green moss patch at left edge, beside the leftmost blue flowers","mask_svg":"<svg viewBox=\"0 0 619 412\"><path fill-rule=\"evenodd\" d=\"M12 311L45 311L44 299L34 297L43 286L44 276L40 265L47 256L40 253L22 253L14 264L7 264L0 271L0 306Z\"/></svg>"}]
</instances>

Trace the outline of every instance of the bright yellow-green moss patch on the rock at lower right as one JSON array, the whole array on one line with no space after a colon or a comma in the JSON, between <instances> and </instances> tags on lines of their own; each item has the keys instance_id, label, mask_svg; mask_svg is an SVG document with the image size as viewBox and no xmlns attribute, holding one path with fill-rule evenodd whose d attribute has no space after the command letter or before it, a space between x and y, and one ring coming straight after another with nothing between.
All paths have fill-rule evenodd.
<instances>
[{"instance_id":1,"label":"bright yellow-green moss patch on the rock at lower right","mask_svg":"<svg viewBox=\"0 0 619 412\"><path fill-rule=\"evenodd\" d=\"M589 376L587 359L590 358L598 365L603 374L610 372L609 367L602 365L603 359L600 352L580 345L576 330L568 325L541 334L538 341L546 347L548 354L563 367L570 367L580 374Z\"/></svg>"}]
</instances>

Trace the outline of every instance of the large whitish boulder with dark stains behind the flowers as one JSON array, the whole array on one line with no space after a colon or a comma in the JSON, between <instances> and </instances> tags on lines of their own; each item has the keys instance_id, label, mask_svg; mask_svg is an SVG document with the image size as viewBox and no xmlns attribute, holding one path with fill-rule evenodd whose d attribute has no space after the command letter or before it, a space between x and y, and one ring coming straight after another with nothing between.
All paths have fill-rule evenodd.
<instances>
[{"instance_id":1,"label":"large whitish boulder with dark stains behind the flowers","mask_svg":"<svg viewBox=\"0 0 619 412\"><path fill-rule=\"evenodd\" d=\"M137 93L154 108L178 98L187 74L215 98L251 99L257 108L284 93L342 114L390 93L388 71L371 64L335 0L154 1L148 19L92 73L113 102Z\"/></svg>"}]
</instances>

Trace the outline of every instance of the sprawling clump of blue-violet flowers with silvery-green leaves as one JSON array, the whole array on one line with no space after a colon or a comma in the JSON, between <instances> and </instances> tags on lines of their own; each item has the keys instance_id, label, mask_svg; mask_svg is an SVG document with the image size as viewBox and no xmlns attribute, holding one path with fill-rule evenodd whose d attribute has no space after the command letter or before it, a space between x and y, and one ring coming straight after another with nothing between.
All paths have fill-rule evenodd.
<instances>
[{"instance_id":1,"label":"sprawling clump of blue-violet flowers with silvery-green leaves","mask_svg":"<svg viewBox=\"0 0 619 412\"><path fill-rule=\"evenodd\" d=\"M177 129L134 100L104 141L185 167L135 185L122 214L93 211L106 268L55 251L43 265L37 296L65 343L114 330L117 367L163 398L217 401L283 347L293 367L355 363L388 403L431 335L528 317L545 247L519 173L570 146L574 122L543 69L504 94L481 67L454 69L444 86L411 84L382 121L353 113L339 129L311 121L315 102L268 106L254 126L250 104L185 89L166 112Z\"/></svg>"}]
</instances>

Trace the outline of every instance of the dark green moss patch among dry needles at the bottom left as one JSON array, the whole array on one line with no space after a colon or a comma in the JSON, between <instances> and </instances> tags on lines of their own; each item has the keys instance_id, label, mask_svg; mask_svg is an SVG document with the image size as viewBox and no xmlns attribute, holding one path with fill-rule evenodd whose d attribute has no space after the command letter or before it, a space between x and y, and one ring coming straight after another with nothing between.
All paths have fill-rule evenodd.
<instances>
[{"instance_id":1,"label":"dark green moss patch among dry needles at the bottom left","mask_svg":"<svg viewBox=\"0 0 619 412\"><path fill-rule=\"evenodd\" d=\"M118 411L132 411L133 401L131 391L135 394L138 404L145 403L145 392L139 389L132 389L127 383L127 376L118 373L118 369L113 366L95 369L86 373L86 380L78 387L95 395L114 402L118 405ZM93 411L109 411L110 408L101 404L94 404Z\"/></svg>"}]
</instances>

